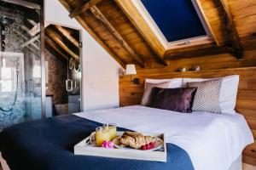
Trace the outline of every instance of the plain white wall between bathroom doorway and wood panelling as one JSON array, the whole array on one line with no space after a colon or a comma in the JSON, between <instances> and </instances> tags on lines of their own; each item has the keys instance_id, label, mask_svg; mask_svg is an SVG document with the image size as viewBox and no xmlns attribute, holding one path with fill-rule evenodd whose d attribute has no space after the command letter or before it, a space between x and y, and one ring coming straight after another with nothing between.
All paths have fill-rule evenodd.
<instances>
[{"instance_id":1,"label":"plain white wall between bathroom doorway and wood panelling","mask_svg":"<svg viewBox=\"0 0 256 170\"><path fill-rule=\"evenodd\" d=\"M83 29L58 0L45 0L45 21ZM119 64L83 29L84 111L119 106Z\"/></svg>"}]
</instances>

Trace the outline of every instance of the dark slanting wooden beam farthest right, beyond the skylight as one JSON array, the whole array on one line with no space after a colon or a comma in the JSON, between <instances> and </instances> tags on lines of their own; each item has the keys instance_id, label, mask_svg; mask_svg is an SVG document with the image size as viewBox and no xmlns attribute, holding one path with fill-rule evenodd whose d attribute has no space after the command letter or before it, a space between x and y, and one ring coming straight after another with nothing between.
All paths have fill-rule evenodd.
<instances>
[{"instance_id":1,"label":"dark slanting wooden beam farthest right, beyond the skylight","mask_svg":"<svg viewBox=\"0 0 256 170\"><path fill-rule=\"evenodd\" d=\"M243 49L241 47L240 38L238 36L238 32L236 30L236 26L230 12L230 7L226 0L219 0L219 5L224 10L226 22L232 36L232 48L234 48L234 54L236 55L236 59L241 59L243 57Z\"/></svg>"}]
</instances>

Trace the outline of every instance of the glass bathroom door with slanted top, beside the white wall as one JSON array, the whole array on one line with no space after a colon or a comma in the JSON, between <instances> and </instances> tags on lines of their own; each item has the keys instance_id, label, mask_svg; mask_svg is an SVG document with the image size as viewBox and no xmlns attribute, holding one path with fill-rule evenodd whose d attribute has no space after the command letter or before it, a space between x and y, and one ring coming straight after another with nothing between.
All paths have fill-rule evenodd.
<instances>
[{"instance_id":1,"label":"glass bathroom door with slanted top, beside the white wall","mask_svg":"<svg viewBox=\"0 0 256 170\"><path fill-rule=\"evenodd\" d=\"M80 31L50 24L45 28L46 115L80 112Z\"/></svg>"}]
</instances>

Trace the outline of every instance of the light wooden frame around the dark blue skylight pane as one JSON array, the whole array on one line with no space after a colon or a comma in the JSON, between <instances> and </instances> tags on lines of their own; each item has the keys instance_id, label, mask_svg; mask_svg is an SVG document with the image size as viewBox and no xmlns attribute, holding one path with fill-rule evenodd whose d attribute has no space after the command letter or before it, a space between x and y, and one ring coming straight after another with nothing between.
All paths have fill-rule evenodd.
<instances>
[{"instance_id":1,"label":"light wooden frame around the dark blue skylight pane","mask_svg":"<svg viewBox=\"0 0 256 170\"><path fill-rule=\"evenodd\" d=\"M143 5L141 0L131 0L131 3L134 4L134 6L137 8L139 13L142 15L143 20L145 20L148 24L148 26L151 28L151 30L154 32L154 35L160 40L160 43L163 45L166 49L171 48L177 48L178 46L183 45L194 45L194 44L205 44L207 42L211 43L214 42L212 39L212 33L210 31L210 28L207 26L207 20L205 20L204 15L201 13L201 9L196 2L196 0L191 0L193 3L193 6L195 7L195 11L199 16L199 19L201 20L201 24L204 27L204 30L206 31L206 36L199 36L199 37L192 37L192 38L185 38L183 40L168 42L162 31L160 31L159 26L155 23L154 19L151 17L151 15L148 13L147 8Z\"/></svg>"}]
</instances>

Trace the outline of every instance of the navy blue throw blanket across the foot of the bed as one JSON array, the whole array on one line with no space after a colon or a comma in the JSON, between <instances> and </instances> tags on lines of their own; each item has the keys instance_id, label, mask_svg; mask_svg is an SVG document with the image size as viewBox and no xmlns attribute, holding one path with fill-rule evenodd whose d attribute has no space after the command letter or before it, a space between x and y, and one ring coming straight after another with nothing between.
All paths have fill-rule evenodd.
<instances>
[{"instance_id":1,"label":"navy blue throw blanket across the foot of the bed","mask_svg":"<svg viewBox=\"0 0 256 170\"><path fill-rule=\"evenodd\" d=\"M73 146L98 126L79 116L17 124L0 133L0 151L11 170L194 170L175 144L167 144L167 162L74 155Z\"/></svg>"}]
</instances>

